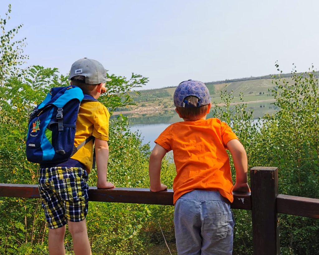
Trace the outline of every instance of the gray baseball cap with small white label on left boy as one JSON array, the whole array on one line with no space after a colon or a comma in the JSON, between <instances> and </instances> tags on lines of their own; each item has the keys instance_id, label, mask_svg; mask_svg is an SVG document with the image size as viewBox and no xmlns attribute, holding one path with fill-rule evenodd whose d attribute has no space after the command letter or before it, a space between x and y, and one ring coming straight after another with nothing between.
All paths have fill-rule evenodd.
<instances>
[{"instance_id":1,"label":"gray baseball cap with small white label on left boy","mask_svg":"<svg viewBox=\"0 0 319 255\"><path fill-rule=\"evenodd\" d=\"M81 58L72 64L69 79L71 80L75 76L84 76L86 84L111 81L110 78L106 77L106 70L103 65L89 58Z\"/></svg>"}]
</instances>

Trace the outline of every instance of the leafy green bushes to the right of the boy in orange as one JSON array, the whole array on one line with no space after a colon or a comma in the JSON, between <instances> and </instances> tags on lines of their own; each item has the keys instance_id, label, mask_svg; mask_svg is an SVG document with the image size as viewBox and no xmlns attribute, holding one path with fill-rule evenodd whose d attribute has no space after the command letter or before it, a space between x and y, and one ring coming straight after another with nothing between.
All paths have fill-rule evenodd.
<instances>
[{"instance_id":1,"label":"leafy green bushes to the right of the boy in orange","mask_svg":"<svg viewBox=\"0 0 319 255\"><path fill-rule=\"evenodd\" d=\"M279 71L279 66L276 63ZM313 67L312 67L313 68ZM273 77L271 91L279 111L254 120L247 105L230 108L232 94L221 93L225 108L214 115L231 123L253 166L278 167L279 193L319 198L319 95L316 72L293 71L293 83ZM233 169L234 173L234 169ZM235 210L234 254L252 254L250 212ZM317 254L319 222L293 215L279 215L281 254Z\"/></svg>"}]
</instances>

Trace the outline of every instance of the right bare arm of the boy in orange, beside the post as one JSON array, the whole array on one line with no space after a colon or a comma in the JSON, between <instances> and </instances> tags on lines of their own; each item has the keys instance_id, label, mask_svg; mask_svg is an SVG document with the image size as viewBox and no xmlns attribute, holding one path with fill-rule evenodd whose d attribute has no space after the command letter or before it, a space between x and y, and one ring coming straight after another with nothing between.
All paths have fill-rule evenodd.
<instances>
[{"instance_id":1,"label":"right bare arm of the boy in orange, beside the post","mask_svg":"<svg viewBox=\"0 0 319 255\"><path fill-rule=\"evenodd\" d=\"M247 154L244 146L237 139L230 140L226 144L234 160L234 166L236 169L236 183L233 191L238 192L250 192L249 185L247 183Z\"/></svg>"}]
</instances>

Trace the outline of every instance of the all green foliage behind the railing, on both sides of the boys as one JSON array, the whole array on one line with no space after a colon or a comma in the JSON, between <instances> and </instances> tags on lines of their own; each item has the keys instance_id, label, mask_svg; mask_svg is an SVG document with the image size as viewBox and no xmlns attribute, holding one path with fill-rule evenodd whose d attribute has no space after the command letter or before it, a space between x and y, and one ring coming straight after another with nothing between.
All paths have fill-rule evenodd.
<instances>
[{"instance_id":1,"label":"all green foliage behind the railing, on both sides of the boys","mask_svg":"<svg viewBox=\"0 0 319 255\"><path fill-rule=\"evenodd\" d=\"M65 76L58 75L57 69L41 66L19 69L19 64L27 58L22 54L24 40L11 42L18 30L6 33L6 21L1 17L0 21L3 31L0 48L0 182L36 184L37 165L25 159L26 119L50 87L66 85L68 81ZM1 51L4 48L6 52ZM134 74L128 80L115 75L111 77L109 94L101 98L111 110L134 104L128 91L147 82L147 78ZM279 193L318 198L316 73L294 72L293 84L280 76L274 78L272 93L280 111L273 116L254 120L247 105L231 108L233 96L226 92L221 93L226 107L215 107L213 113L232 124L247 150L249 167L279 167ZM111 123L109 144L109 180L116 186L149 187L149 146L142 145L139 135L128 130L125 117L120 116ZM173 178L174 165L166 160L162 167L163 182L171 188ZM89 185L95 184L96 171L93 170ZM166 240L174 242L173 210L169 206L90 202L87 226L93 254L147 254L147 246L163 242L159 225ZM48 254L48 228L40 200L3 198L0 214L0 254ZM234 214L234 254L252 254L250 212L234 210ZM280 215L279 220L281 254L317 254L318 221L292 215ZM70 235L65 238L65 246L67 253L72 254Z\"/></svg>"}]
</instances>

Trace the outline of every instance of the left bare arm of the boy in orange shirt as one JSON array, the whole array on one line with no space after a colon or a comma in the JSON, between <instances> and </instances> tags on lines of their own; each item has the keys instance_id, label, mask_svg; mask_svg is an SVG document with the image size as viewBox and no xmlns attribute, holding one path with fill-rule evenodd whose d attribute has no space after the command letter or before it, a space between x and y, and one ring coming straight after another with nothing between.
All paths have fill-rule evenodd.
<instances>
[{"instance_id":1,"label":"left bare arm of the boy in orange shirt","mask_svg":"<svg viewBox=\"0 0 319 255\"><path fill-rule=\"evenodd\" d=\"M160 168L162 165L162 159L166 153L167 150L158 144L156 144L152 150L148 168L150 175L150 190L152 192L158 192L167 189L167 186L160 182Z\"/></svg>"}]
</instances>

